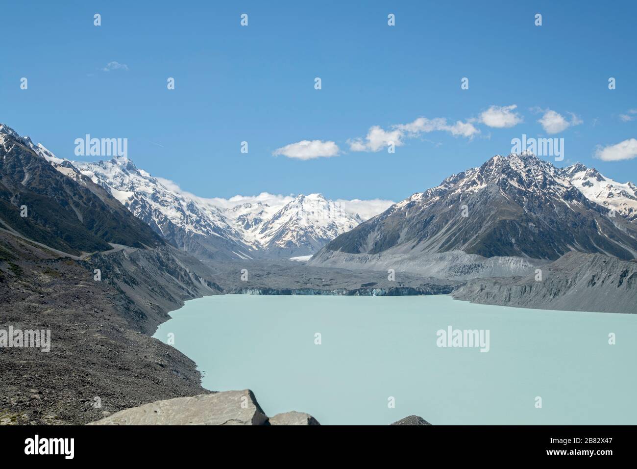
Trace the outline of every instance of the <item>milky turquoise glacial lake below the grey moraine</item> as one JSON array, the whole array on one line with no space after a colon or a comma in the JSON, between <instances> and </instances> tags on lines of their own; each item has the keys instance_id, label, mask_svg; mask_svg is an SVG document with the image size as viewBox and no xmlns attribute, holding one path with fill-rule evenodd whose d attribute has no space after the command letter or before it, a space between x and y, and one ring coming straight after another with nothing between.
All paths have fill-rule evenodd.
<instances>
[{"instance_id":1,"label":"milky turquoise glacial lake below the grey moraine","mask_svg":"<svg viewBox=\"0 0 637 469\"><path fill-rule=\"evenodd\" d=\"M155 337L168 343L174 334L203 386L252 389L270 416L298 410L328 425L412 414L434 425L637 424L637 315L447 295L217 295L171 316ZM489 330L489 351L438 346L449 327Z\"/></svg>"}]
</instances>

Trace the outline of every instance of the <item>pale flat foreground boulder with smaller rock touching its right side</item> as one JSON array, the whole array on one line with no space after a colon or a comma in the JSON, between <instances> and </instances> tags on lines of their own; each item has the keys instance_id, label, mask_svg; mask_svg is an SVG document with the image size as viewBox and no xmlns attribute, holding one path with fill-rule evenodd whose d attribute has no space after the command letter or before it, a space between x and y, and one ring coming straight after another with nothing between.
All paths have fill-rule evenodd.
<instances>
[{"instance_id":1,"label":"pale flat foreground boulder with smaller rock touching its right side","mask_svg":"<svg viewBox=\"0 0 637 469\"><path fill-rule=\"evenodd\" d=\"M252 391L225 391L191 398L157 401L117 412L89 425L319 425L301 412L278 413L271 419Z\"/></svg>"}]
</instances>

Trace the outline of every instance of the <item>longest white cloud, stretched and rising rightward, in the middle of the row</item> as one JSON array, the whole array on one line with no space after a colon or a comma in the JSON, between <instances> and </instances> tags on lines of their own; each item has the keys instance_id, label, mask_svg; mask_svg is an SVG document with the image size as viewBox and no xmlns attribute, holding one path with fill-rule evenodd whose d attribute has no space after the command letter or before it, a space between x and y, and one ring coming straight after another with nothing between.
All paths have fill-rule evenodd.
<instances>
[{"instance_id":1,"label":"longest white cloud, stretched and rising rightward, in the middle of the row","mask_svg":"<svg viewBox=\"0 0 637 469\"><path fill-rule=\"evenodd\" d=\"M392 126L393 130L384 130L380 126L369 128L367 136L348 140L350 150L352 151L378 151L387 147L390 142L400 147L404 145L405 138L416 138L422 133L433 131L445 131L454 137L473 138L474 135L480 133L473 124L462 121L456 121L455 124L447 124L444 117L436 117L435 119L427 119L427 117L419 117L415 121L408 124L397 124Z\"/></svg>"}]
</instances>

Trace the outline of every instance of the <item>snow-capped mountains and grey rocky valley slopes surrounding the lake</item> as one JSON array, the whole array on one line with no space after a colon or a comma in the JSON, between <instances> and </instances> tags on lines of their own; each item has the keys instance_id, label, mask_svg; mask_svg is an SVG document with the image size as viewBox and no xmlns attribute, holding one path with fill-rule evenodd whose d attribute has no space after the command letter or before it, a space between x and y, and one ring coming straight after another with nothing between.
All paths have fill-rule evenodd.
<instances>
[{"instance_id":1,"label":"snow-capped mountains and grey rocky valley slopes surrounding the lake","mask_svg":"<svg viewBox=\"0 0 637 469\"><path fill-rule=\"evenodd\" d=\"M64 160L4 125L0 176L3 318L54 341L51 359L0 354L5 423L87 423L205 394L194 362L150 336L206 295L637 308L635 186L580 164L496 155L369 220L319 194L215 205L127 158Z\"/></svg>"}]
</instances>

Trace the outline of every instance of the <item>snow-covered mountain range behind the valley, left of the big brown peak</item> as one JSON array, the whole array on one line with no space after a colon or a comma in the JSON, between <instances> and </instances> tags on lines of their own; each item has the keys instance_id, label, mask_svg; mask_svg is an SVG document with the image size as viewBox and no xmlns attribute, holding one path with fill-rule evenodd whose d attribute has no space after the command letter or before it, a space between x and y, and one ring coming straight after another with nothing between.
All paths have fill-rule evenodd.
<instances>
[{"instance_id":1,"label":"snow-covered mountain range behind the valley, left of the big brown peak","mask_svg":"<svg viewBox=\"0 0 637 469\"><path fill-rule=\"evenodd\" d=\"M63 160L4 124L0 124L0 134L18 138L59 172L97 195L110 194L169 242L200 258L308 255L362 221L358 214L319 194L299 195L287 204L250 202L220 207L212 200L169 187L170 183L164 184L168 181L153 177L125 157L96 162Z\"/></svg>"}]
</instances>

